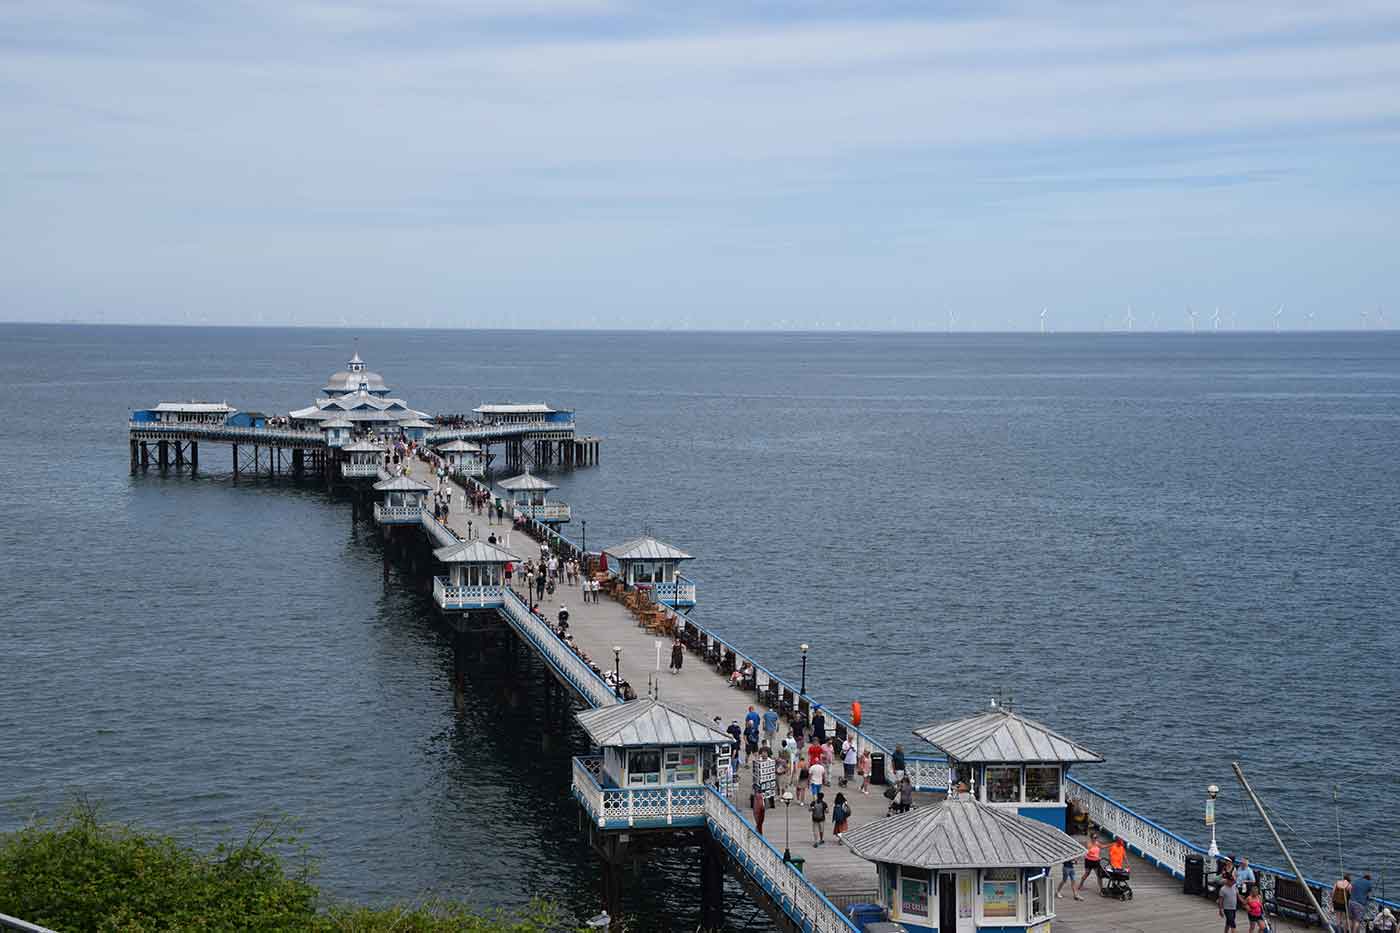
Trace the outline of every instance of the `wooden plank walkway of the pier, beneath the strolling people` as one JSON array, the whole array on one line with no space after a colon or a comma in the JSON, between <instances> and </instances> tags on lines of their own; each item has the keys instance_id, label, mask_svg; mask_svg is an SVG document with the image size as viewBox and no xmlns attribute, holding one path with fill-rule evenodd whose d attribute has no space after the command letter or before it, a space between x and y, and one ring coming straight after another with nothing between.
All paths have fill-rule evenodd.
<instances>
[{"instance_id":1,"label":"wooden plank walkway of the pier, beneath the strolling people","mask_svg":"<svg viewBox=\"0 0 1400 933\"><path fill-rule=\"evenodd\" d=\"M514 531L510 520L494 521L484 514L477 516L468 511L465 503L466 496L458 486L452 493L452 513L448 517L448 524L454 530L465 535L468 521L470 521L473 534L483 541L494 532L500 546L507 548L522 560L539 558L539 542L521 531ZM545 618L553 622L559 616L559 608L564 605L568 607L568 629L575 644L603 670L612 670L613 647L620 647L619 668L622 677L631 684L640 696L647 695L648 682L654 681L659 686L661 699L680 703L707 719L718 717L721 728L732 720L739 720L742 724L749 706L753 706L760 714L767 709L753 695L731 688L727 677L693 653L686 653L680 674L669 674L666 670L671 657L669 640L658 639L647 632L626 607L608 598L606 594L601 594L601 601L596 604L584 602L578 587L561 586L552 595L546 595L539 608ZM937 719L937 716L938 710L930 710L931 719ZM780 735L785 734L787 724L783 723ZM925 754L925 749L909 748L910 754ZM839 763L834 770L840 772ZM834 778L832 783L834 785ZM749 787L749 768L745 765L739 769L735 799L743 801L739 810L752 824L752 813L748 807ZM872 786L869 796L862 796L855 783L850 789L833 786L827 801L834 800L836 792L846 793L851 803L851 828L855 828L886 815L889 801L882 796L882 787ZM914 796L914 806L928 806L939 799L941 794L918 793ZM790 846L794 856L806 860L806 876L827 897L862 894L862 899L874 901L876 891L875 866L854 856L844 846L830 842L830 828L832 824L827 820L827 843L820 848L813 846L808 811L799 804L792 804L791 810L785 811L781 803L769 810L763 827L764 835L773 845L778 849ZM1084 901L1074 901L1065 894L1063 899L1057 901L1058 916L1054 920L1054 929L1063 933L1217 933L1224 927L1217 916L1214 902L1186 897L1182 894L1182 883L1170 874L1140 859L1133 859L1133 863L1134 897L1131 901L1121 902L1099 897L1092 885L1086 887ZM1058 869L1054 869L1053 877L1058 883ZM1277 918L1271 918L1271 923L1280 932L1308 929ZM1243 915L1239 918L1239 927L1242 930L1249 927ZM1312 929L1316 930L1316 927Z\"/></svg>"}]
</instances>

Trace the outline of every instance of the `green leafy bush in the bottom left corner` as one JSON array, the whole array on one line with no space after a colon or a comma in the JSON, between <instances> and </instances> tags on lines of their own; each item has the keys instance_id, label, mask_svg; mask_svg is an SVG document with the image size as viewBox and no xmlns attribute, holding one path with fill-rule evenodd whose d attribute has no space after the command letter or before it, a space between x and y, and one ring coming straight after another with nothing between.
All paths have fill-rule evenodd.
<instances>
[{"instance_id":1,"label":"green leafy bush in the bottom left corner","mask_svg":"<svg viewBox=\"0 0 1400 933\"><path fill-rule=\"evenodd\" d=\"M169 836L102 822L78 801L57 820L0 835L0 913L62 933L157 930L339 930L368 933L546 933L557 909L515 913L433 902L381 909L325 904L311 862L288 871L276 849L294 843L263 825L210 853Z\"/></svg>"}]
</instances>

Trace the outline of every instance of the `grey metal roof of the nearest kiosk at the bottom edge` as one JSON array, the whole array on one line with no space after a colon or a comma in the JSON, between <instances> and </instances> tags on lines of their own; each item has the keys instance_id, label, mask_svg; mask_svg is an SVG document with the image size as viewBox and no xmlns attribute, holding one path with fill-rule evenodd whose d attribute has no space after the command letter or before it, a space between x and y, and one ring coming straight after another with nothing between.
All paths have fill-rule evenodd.
<instances>
[{"instance_id":1,"label":"grey metal roof of the nearest kiosk at the bottom edge","mask_svg":"<svg viewBox=\"0 0 1400 933\"><path fill-rule=\"evenodd\" d=\"M1033 869L1084 855L1050 824L966 796L865 824L841 839L869 862L917 869Z\"/></svg>"}]
</instances>

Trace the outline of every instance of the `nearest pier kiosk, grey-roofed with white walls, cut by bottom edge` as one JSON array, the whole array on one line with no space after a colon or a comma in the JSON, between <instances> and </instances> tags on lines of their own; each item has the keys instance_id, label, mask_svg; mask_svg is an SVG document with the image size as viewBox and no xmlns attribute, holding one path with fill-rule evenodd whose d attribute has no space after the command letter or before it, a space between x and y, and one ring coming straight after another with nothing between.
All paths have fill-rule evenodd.
<instances>
[{"instance_id":1,"label":"nearest pier kiosk, grey-roofed with white walls, cut by bottom edge","mask_svg":"<svg viewBox=\"0 0 1400 933\"><path fill-rule=\"evenodd\" d=\"M960 794L844 834L879 873L879 902L911 933L1049 933L1053 871L1084 846L1039 820Z\"/></svg>"}]
</instances>

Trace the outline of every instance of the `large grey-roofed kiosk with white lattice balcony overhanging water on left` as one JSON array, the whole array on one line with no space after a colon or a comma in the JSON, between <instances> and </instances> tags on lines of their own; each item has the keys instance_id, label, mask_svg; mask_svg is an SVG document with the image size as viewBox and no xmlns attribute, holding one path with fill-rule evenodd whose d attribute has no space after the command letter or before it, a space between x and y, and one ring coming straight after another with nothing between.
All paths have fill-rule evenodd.
<instances>
[{"instance_id":1,"label":"large grey-roofed kiosk with white lattice balcony overhanging water on left","mask_svg":"<svg viewBox=\"0 0 1400 933\"><path fill-rule=\"evenodd\" d=\"M574 759L573 783L599 829L704 825L706 782L729 768L728 733L651 698L574 717L601 751Z\"/></svg>"}]
</instances>

